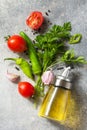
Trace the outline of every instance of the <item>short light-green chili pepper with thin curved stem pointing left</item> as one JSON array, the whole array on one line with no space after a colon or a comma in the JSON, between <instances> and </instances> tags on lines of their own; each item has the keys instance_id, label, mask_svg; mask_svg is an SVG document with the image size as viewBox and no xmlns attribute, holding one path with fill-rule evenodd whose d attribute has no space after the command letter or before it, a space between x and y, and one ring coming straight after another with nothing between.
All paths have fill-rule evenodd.
<instances>
[{"instance_id":1,"label":"short light-green chili pepper with thin curved stem pointing left","mask_svg":"<svg viewBox=\"0 0 87 130\"><path fill-rule=\"evenodd\" d=\"M20 67L20 69L23 71L23 73L33 79L33 74L31 70L30 64L23 58L5 58L5 60L13 60L15 63Z\"/></svg>"}]
</instances>

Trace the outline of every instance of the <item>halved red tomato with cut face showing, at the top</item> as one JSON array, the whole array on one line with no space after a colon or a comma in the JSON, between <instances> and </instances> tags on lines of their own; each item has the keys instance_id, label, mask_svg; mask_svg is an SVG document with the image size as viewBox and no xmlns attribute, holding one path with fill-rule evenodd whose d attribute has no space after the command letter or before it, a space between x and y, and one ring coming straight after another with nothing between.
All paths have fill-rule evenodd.
<instances>
[{"instance_id":1,"label":"halved red tomato with cut face showing, at the top","mask_svg":"<svg viewBox=\"0 0 87 130\"><path fill-rule=\"evenodd\" d=\"M43 15L39 11L32 12L26 19L26 24L32 29L39 29L44 21Z\"/></svg>"}]
</instances>

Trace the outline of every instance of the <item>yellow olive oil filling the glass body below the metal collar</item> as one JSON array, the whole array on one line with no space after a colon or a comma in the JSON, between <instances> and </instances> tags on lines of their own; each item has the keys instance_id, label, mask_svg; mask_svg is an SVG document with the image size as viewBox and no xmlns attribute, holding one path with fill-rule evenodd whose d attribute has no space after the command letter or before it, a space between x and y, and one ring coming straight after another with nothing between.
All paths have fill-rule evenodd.
<instances>
[{"instance_id":1,"label":"yellow olive oil filling the glass body below the metal collar","mask_svg":"<svg viewBox=\"0 0 87 130\"><path fill-rule=\"evenodd\" d=\"M39 116L47 117L55 121L64 121L66 115L67 104L70 99L70 91L63 88L56 88L51 86L49 88L49 93L47 93L41 109L39 111ZM55 96L53 96L55 94ZM52 103L50 102L52 100Z\"/></svg>"}]
</instances>

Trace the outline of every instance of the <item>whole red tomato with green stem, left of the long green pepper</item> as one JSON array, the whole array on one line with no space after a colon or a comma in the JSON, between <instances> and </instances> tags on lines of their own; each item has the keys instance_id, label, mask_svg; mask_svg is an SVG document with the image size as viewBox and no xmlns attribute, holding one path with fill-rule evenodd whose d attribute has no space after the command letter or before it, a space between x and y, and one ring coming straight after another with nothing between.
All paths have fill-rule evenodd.
<instances>
[{"instance_id":1,"label":"whole red tomato with green stem, left of the long green pepper","mask_svg":"<svg viewBox=\"0 0 87 130\"><path fill-rule=\"evenodd\" d=\"M9 49L14 52L23 52L27 50L25 40L19 35L11 36L7 41L7 45Z\"/></svg>"}]
</instances>

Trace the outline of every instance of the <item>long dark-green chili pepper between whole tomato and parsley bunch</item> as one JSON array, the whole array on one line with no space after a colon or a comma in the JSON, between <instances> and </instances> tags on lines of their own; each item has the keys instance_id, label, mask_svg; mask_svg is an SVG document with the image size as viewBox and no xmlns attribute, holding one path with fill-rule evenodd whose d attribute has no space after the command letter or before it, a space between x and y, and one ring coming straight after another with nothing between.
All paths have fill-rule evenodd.
<instances>
[{"instance_id":1,"label":"long dark-green chili pepper between whole tomato and parsley bunch","mask_svg":"<svg viewBox=\"0 0 87 130\"><path fill-rule=\"evenodd\" d=\"M33 45L32 41L31 41L31 39L23 31L21 31L19 34L20 34L20 36L22 38L24 38L24 40L27 43L28 55L29 55L29 58L30 58L30 61L31 61L31 64L32 64L33 73L34 74L41 74L42 67L41 67L40 61L38 59L36 50L34 48L34 45Z\"/></svg>"}]
</instances>

